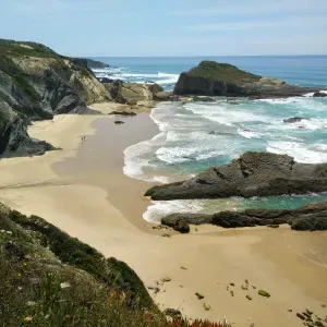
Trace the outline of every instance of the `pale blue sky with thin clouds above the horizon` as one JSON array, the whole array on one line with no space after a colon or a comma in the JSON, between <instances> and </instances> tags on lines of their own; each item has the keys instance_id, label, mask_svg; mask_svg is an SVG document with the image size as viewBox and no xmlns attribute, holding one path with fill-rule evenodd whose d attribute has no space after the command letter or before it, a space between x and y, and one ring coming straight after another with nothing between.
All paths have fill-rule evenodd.
<instances>
[{"instance_id":1,"label":"pale blue sky with thin clouds above the horizon","mask_svg":"<svg viewBox=\"0 0 327 327\"><path fill-rule=\"evenodd\" d=\"M76 57L327 55L327 0L0 0L0 38Z\"/></svg>"}]
</instances>

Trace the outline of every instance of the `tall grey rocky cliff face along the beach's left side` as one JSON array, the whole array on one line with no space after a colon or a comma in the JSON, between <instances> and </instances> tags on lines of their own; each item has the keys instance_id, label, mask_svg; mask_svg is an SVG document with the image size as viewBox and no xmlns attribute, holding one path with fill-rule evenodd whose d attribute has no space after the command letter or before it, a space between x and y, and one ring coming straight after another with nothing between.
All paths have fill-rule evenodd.
<instances>
[{"instance_id":1,"label":"tall grey rocky cliff face along the beach's left side","mask_svg":"<svg viewBox=\"0 0 327 327\"><path fill-rule=\"evenodd\" d=\"M41 154L51 147L28 137L33 120L58 113L92 113L110 100L83 59L59 56L44 45L0 39L0 155Z\"/></svg>"}]
</instances>

